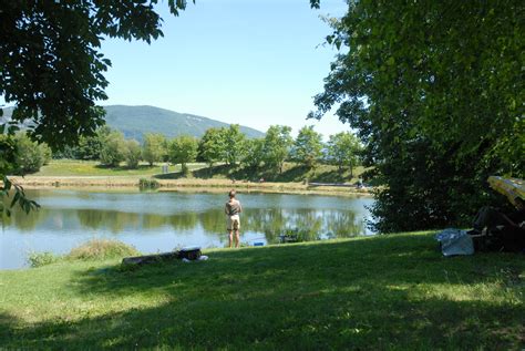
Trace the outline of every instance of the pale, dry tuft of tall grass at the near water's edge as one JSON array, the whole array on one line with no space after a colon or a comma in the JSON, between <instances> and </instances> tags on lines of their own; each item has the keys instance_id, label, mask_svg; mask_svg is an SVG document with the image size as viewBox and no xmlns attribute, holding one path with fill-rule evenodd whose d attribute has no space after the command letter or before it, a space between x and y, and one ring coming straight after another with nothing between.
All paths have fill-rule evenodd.
<instances>
[{"instance_id":1,"label":"pale, dry tuft of tall grass at the near water's edge","mask_svg":"<svg viewBox=\"0 0 525 351\"><path fill-rule=\"evenodd\" d=\"M74 248L68 259L107 259L141 255L133 246L116 240L91 240Z\"/></svg>"}]
</instances>

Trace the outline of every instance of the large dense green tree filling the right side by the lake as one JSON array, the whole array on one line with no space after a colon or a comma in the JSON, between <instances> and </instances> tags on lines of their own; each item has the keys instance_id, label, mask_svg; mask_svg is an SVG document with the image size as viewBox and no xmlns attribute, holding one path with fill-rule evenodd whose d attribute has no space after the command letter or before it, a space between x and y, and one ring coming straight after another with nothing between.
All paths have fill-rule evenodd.
<instances>
[{"instance_id":1,"label":"large dense green tree filling the right side by the lake","mask_svg":"<svg viewBox=\"0 0 525 351\"><path fill-rule=\"evenodd\" d=\"M358 131L384 182L375 229L470 225L491 200L488 175L524 176L524 11L506 1L356 1L332 20L328 42L349 50L310 116L337 105Z\"/></svg>"}]
</instances>

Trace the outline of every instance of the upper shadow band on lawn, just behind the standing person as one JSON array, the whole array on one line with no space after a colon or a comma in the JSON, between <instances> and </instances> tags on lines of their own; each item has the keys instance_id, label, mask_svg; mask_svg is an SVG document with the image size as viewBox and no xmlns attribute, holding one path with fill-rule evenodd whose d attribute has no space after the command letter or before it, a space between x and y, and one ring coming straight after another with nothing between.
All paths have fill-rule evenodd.
<instances>
[{"instance_id":1,"label":"upper shadow band on lawn, just behind the standing person","mask_svg":"<svg viewBox=\"0 0 525 351\"><path fill-rule=\"evenodd\" d=\"M75 286L81 293L122 296L152 288L173 292L174 278L209 285L223 293L243 290L248 293L255 287L260 288L257 291L264 291L266 287L274 287L275 290L282 283L282 293L292 291L290 287L303 287L305 283L318 288L347 287L356 282L451 283L452 276L461 277L462 283L476 283L487 279L486 275L480 273L480 267L490 271L508 270L509 262L518 258L514 255L497 256L495 265L495 256L443 258L430 236L412 236L408 240L398 235L379 239L218 250L210 254L209 261L191 265L174 261L131 271L115 266L110 267L109 273L103 277L89 272L80 275ZM525 269L525 264L522 262L521 267ZM192 293L192 289L184 292Z\"/></svg>"}]
</instances>

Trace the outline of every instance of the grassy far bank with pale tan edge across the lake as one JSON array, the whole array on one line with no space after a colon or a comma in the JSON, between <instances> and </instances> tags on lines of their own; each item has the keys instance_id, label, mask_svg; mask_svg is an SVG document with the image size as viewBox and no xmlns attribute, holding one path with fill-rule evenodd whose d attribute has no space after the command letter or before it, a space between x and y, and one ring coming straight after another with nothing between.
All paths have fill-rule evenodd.
<instances>
[{"instance_id":1,"label":"grassy far bank with pale tan edge across the lake","mask_svg":"<svg viewBox=\"0 0 525 351\"><path fill-rule=\"evenodd\" d=\"M313 169L287 163L281 173L250 169L224 164L209 167L203 163L188 164L184 175L181 165L142 164L136 169L109 168L92 161L53 159L35 174L11 179L27 188L138 188L141 179L158 190L244 192L312 194L337 196L371 196L371 187L358 187L364 169L352 174L337 166L319 165Z\"/></svg>"}]
</instances>

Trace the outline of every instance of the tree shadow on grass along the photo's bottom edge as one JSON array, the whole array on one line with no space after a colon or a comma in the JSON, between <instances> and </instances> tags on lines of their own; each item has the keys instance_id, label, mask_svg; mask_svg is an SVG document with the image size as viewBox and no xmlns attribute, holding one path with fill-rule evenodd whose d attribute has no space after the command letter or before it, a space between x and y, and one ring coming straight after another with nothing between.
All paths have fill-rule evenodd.
<instances>
[{"instance_id":1,"label":"tree shadow on grass along the photo's bottom edge","mask_svg":"<svg viewBox=\"0 0 525 351\"><path fill-rule=\"evenodd\" d=\"M406 292L381 289L385 300L321 292L281 300L208 299L166 302L74 322L10 329L4 344L28 349L228 350L476 350L519 349L523 309L431 298L409 302ZM369 309L363 309L367 303ZM505 326L500 324L505 321Z\"/></svg>"}]
</instances>

